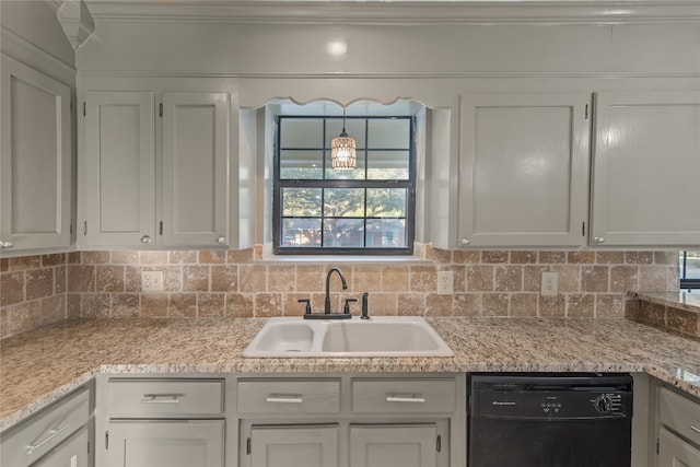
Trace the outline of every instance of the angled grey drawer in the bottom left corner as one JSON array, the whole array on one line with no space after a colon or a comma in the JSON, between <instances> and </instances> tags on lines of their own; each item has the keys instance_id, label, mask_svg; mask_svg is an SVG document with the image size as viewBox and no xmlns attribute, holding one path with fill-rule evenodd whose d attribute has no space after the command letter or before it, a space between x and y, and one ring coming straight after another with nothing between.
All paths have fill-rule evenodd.
<instances>
[{"instance_id":1,"label":"angled grey drawer in the bottom left corner","mask_svg":"<svg viewBox=\"0 0 700 467\"><path fill-rule=\"evenodd\" d=\"M2 435L0 465L28 466L90 419L90 392L82 388Z\"/></svg>"}]
</instances>

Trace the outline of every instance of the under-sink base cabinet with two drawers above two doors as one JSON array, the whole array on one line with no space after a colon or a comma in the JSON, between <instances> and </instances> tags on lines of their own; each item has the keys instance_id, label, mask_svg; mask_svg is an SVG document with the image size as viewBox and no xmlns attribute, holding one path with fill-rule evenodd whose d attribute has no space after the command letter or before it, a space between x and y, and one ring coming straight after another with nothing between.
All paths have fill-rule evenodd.
<instances>
[{"instance_id":1,"label":"under-sink base cabinet with two drawers above two doors","mask_svg":"<svg viewBox=\"0 0 700 467\"><path fill-rule=\"evenodd\" d=\"M464 465L463 380L427 375L241 378L238 465ZM451 437L457 440L454 445Z\"/></svg>"}]
</instances>

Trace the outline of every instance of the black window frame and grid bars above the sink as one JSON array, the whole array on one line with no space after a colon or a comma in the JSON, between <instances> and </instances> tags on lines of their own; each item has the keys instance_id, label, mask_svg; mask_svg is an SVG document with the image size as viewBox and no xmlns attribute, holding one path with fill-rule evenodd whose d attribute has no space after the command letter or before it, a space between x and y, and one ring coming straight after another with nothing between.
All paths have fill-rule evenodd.
<instances>
[{"instance_id":1,"label":"black window frame and grid bars above the sink","mask_svg":"<svg viewBox=\"0 0 700 467\"><path fill-rule=\"evenodd\" d=\"M281 148L281 120L294 118L294 119L322 119L323 124L323 148ZM409 120L409 144L408 144L408 179L406 180L374 180L366 179L366 171L369 170L366 161L369 152L380 151L395 151L396 148L382 149L371 148L368 140L368 125L364 126L364 140L365 148L358 148L358 152L364 153L364 171L365 177L363 179L300 179L290 178L281 179L281 152L282 150L322 150L323 152L323 166L322 173L325 176L327 168L327 161L329 161L330 148L326 147L327 138L327 125L328 120L338 119L362 119L362 120L380 120L380 119L407 119ZM376 116L376 115L361 115L361 116L327 116L327 115L277 115L275 116L275 151L273 151L273 182L272 182L272 253L275 255L293 256L293 255L310 255L310 256L407 256L413 254L413 242L416 237L416 179L417 179L417 162L416 162L416 132L417 132L417 118L412 115L390 115L390 116ZM284 218L282 217L282 189L283 188L406 188L406 246L405 247L329 247L329 246L282 246L282 223ZM366 192L365 192L366 197ZM323 206L322 206L323 209ZM325 215L322 213L322 231L323 220ZM358 219L358 218L354 218ZM375 218L366 217L366 206L364 217L365 225L368 220ZM387 218L388 219L388 218ZM322 236L323 238L323 236ZM364 243L366 244L366 230L364 235Z\"/></svg>"}]
</instances>

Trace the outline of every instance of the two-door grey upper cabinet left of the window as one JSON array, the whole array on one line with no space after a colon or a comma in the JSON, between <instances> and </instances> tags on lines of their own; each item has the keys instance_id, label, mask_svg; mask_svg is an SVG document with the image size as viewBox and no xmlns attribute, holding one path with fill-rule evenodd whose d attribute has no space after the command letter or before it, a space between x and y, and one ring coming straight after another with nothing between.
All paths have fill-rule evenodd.
<instances>
[{"instance_id":1,"label":"two-door grey upper cabinet left of the window","mask_svg":"<svg viewBox=\"0 0 700 467\"><path fill-rule=\"evenodd\" d=\"M228 246L229 94L88 91L85 102L79 246Z\"/></svg>"}]
</instances>

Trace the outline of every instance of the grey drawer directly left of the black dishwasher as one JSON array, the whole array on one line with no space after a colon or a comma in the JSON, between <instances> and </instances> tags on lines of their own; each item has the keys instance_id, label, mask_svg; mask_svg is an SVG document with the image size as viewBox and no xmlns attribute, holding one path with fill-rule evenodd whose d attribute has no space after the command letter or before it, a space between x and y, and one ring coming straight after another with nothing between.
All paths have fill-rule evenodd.
<instances>
[{"instance_id":1,"label":"grey drawer directly left of the black dishwasher","mask_svg":"<svg viewBox=\"0 0 700 467\"><path fill-rule=\"evenodd\" d=\"M453 412L454 380L353 380L354 412Z\"/></svg>"}]
</instances>

